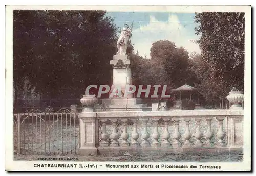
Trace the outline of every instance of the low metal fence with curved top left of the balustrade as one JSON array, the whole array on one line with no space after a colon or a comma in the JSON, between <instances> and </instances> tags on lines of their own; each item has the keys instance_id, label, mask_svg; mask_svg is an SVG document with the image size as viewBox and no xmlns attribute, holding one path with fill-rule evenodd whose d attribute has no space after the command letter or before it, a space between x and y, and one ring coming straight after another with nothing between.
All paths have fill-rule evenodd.
<instances>
[{"instance_id":1,"label":"low metal fence with curved top left of the balustrade","mask_svg":"<svg viewBox=\"0 0 256 176\"><path fill-rule=\"evenodd\" d=\"M78 113L32 109L14 114L14 153L24 155L76 154L80 140Z\"/></svg>"}]
</instances>

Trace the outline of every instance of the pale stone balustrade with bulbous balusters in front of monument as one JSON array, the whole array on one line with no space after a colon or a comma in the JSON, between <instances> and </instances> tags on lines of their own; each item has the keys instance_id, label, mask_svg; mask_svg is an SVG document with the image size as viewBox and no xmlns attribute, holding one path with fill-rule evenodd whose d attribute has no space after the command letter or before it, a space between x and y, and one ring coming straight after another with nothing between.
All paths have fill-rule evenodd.
<instances>
[{"instance_id":1,"label":"pale stone balustrade with bulbous balusters in front of monument","mask_svg":"<svg viewBox=\"0 0 256 176\"><path fill-rule=\"evenodd\" d=\"M243 148L243 110L82 112L79 118L82 154Z\"/></svg>"}]
</instances>

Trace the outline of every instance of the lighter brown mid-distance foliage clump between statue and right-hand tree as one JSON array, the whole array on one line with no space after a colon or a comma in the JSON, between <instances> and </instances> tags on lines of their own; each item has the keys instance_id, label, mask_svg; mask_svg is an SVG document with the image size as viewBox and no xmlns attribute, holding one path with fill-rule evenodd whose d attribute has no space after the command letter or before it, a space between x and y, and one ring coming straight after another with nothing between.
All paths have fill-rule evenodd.
<instances>
[{"instance_id":1,"label":"lighter brown mid-distance foliage clump between statue and right-hand tree","mask_svg":"<svg viewBox=\"0 0 256 176\"><path fill-rule=\"evenodd\" d=\"M166 94L172 94L173 88L185 83L194 85L198 80L194 70L190 69L188 52L183 47L176 47L168 40L159 40L152 44L151 59L142 57L137 52L132 55L133 84L162 85L158 90L161 95L163 85L167 85ZM171 98L172 99L172 98Z\"/></svg>"}]
</instances>

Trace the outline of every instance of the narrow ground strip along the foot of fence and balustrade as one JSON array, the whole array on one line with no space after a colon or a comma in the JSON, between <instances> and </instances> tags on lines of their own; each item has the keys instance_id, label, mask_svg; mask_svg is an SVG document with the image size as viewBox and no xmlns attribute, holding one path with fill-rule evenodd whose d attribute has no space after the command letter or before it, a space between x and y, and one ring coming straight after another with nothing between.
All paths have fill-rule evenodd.
<instances>
[{"instance_id":1,"label":"narrow ground strip along the foot of fence and balustrade","mask_svg":"<svg viewBox=\"0 0 256 176\"><path fill-rule=\"evenodd\" d=\"M232 152L186 152L186 153L165 153L157 155L147 154L129 154L129 155L97 155L97 156L78 156L78 155L67 155L67 156L45 156L45 155L14 155L14 160L28 160L37 161L37 158L77 158L78 161L159 161L159 162L242 162L243 153L239 151Z\"/></svg>"}]
</instances>

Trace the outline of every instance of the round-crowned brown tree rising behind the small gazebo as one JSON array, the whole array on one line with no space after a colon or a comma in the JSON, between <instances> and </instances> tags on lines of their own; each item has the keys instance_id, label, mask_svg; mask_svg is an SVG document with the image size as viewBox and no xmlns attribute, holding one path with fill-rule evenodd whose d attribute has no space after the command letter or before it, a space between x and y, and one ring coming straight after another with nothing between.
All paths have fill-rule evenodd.
<instances>
[{"instance_id":1,"label":"round-crowned brown tree rising behind the small gazebo","mask_svg":"<svg viewBox=\"0 0 256 176\"><path fill-rule=\"evenodd\" d=\"M185 83L194 84L189 70L188 52L183 47L176 47L175 43L160 40L152 44L152 65L157 66L155 73L160 83L177 88Z\"/></svg>"}]
</instances>

